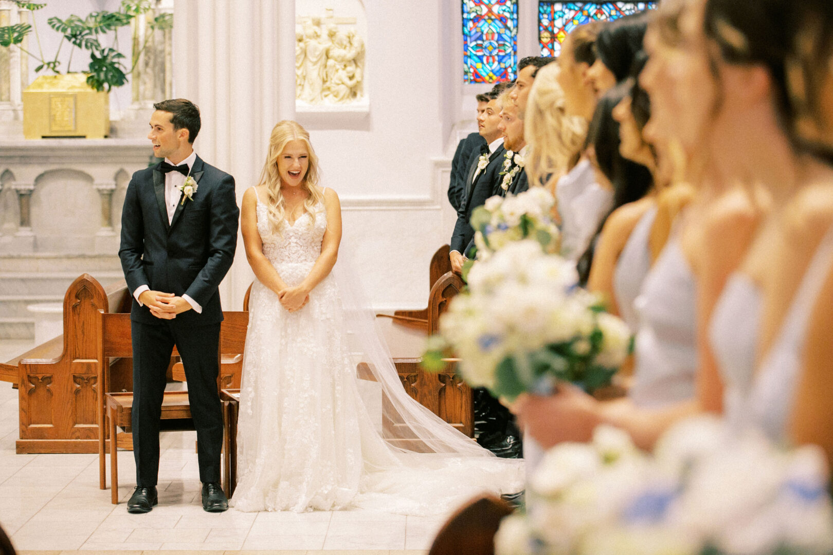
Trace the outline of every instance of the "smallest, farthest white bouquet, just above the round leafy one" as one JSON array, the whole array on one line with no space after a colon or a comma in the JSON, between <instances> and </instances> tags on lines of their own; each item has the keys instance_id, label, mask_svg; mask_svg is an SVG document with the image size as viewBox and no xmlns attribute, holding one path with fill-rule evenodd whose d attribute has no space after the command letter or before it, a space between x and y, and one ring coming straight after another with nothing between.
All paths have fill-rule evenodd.
<instances>
[{"instance_id":1,"label":"smallest, farthest white bouquet, just above the round leafy one","mask_svg":"<svg viewBox=\"0 0 833 555\"><path fill-rule=\"evenodd\" d=\"M517 196L492 196L471 213L477 260L486 260L512 241L533 239L547 253L557 253L559 233L550 212L556 200L544 187Z\"/></svg>"}]
</instances>

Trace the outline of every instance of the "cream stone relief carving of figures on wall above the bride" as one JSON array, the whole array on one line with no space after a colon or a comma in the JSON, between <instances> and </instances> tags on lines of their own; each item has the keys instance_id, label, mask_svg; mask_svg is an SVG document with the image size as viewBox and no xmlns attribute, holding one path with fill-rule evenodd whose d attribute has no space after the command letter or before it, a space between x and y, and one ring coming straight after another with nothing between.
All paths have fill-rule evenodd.
<instances>
[{"instance_id":1,"label":"cream stone relief carving of figures on wall above the bride","mask_svg":"<svg viewBox=\"0 0 833 555\"><path fill-rule=\"evenodd\" d=\"M302 17L296 31L297 100L308 104L349 104L364 97L365 44L352 18Z\"/></svg>"}]
</instances>

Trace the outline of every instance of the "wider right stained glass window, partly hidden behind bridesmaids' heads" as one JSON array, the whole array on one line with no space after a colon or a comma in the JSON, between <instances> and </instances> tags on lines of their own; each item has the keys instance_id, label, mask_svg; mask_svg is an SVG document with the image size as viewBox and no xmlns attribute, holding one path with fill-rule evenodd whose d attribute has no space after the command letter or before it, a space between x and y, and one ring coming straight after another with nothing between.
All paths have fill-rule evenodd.
<instances>
[{"instance_id":1,"label":"wider right stained glass window, partly hidden behind bridesmaids' heads","mask_svg":"<svg viewBox=\"0 0 833 555\"><path fill-rule=\"evenodd\" d=\"M541 56L558 56L561 42L573 28L591 21L612 21L656 7L656 2L538 2Z\"/></svg>"}]
</instances>

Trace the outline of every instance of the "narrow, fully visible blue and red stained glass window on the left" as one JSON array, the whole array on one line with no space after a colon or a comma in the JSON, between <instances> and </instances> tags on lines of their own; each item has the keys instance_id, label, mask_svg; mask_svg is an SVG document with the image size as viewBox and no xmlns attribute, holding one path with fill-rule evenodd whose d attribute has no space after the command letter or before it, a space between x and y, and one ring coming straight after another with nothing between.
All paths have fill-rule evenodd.
<instances>
[{"instance_id":1,"label":"narrow, fully visible blue and red stained glass window on the left","mask_svg":"<svg viewBox=\"0 0 833 555\"><path fill-rule=\"evenodd\" d=\"M515 78L517 0L463 0L463 71L467 83Z\"/></svg>"}]
</instances>

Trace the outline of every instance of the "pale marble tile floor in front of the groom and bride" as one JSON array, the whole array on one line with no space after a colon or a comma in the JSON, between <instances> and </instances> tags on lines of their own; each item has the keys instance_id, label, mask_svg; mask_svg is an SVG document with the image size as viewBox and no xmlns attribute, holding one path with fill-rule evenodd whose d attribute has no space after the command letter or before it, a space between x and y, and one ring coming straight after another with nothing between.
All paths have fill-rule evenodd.
<instances>
[{"instance_id":1,"label":"pale marble tile floor in front of the groom and bride","mask_svg":"<svg viewBox=\"0 0 833 555\"><path fill-rule=\"evenodd\" d=\"M112 505L110 490L98 489L96 454L18 455L16 439L17 390L0 382L0 524L23 553L269 550L300 555L326 550L328 555L416 555L430 548L445 521L357 510L205 513L193 432L162 434L159 505L134 515L124 504L133 487L132 452L119 452L121 503Z\"/></svg>"}]
</instances>

